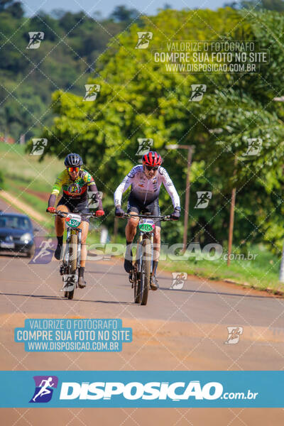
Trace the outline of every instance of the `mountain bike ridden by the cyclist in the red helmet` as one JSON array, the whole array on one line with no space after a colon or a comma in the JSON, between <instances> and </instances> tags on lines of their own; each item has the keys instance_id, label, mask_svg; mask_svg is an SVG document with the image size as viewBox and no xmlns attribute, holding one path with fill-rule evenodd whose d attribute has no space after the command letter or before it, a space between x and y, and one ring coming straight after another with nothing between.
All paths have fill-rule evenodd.
<instances>
[{"instance_id":1,"label":"mountain bike ridden by the cyclist in the red helmet","mask_svg":"<svg viewBox=\"0 0 284 426\"><path fill-rule=\"evenodd\" d=\"M152 272L153 272L153 232L155 222L153 219L160 221L172 220L168 216L153 216L151 214L124 214L123 218L130 219L138 217L138 236L135 261L133 261L132 271L129 274L129 281L134 290L134 302L140 305L147 305L148 293L151 288Z\"/></svg>"}]
</instances>

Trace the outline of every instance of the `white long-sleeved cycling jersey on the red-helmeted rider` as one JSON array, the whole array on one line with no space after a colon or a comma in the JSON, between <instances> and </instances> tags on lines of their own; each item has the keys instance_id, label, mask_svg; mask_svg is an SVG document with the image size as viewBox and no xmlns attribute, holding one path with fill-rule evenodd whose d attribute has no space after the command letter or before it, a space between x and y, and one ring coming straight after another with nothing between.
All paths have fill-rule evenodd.
<instances>
[{"instance_id":1,"label":"white long-sleeved cycling jersey on the red-helmeted rider","mask_svg":"<svg viewBox=\"0 0 284 426\"><path fill-rule=\"evenodd\" d=\"M143 171L143 165L136 165L133 167L121 184L116 188L116 192L114 192L114 204L116 207L121 206L122 194L130 185L131 195L133 195L138 202L141 204L150 204L158 198L162 182L172 199L173 206L180 207L180 197L175 190L167 170L163 167L159 167L158 173L153 178L148 179Z\"/></svg>"}]
</instances>

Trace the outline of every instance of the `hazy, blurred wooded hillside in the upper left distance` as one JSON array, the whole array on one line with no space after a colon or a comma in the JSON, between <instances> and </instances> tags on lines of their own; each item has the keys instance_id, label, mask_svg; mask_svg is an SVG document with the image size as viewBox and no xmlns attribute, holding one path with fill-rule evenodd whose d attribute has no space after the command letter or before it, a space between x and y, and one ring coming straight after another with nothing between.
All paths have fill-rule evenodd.
<instances>
[{"instance_id":1,"label":"hazy, blurred wooded hillside in the upper left distance","mask_svg":"<svg viewBox=\"0 0 284 426\"><path fill-rule=\"evenodd\" d=\"M84 92L97 57L122 29L121 23L109 19L100 23L83 12L40 11L27 20L16 13L19 4L0 0L0 125L1 132L16 140L21 133L26 138L38 136L44 125L51 124L52 92ZM31 31L45 33L35 50L26 49Z\"/></svg>"}]
</instances>

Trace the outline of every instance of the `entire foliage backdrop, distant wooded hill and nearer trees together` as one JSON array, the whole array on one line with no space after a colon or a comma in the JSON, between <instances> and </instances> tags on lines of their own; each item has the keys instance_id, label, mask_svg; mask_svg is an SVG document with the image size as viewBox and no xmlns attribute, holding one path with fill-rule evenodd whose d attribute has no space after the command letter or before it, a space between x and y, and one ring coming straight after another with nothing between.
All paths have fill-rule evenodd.
<instances>
[{"instance_id":1,"label":"entire foliage backdrop, distant wooded hill and nearer trees together","mask_svg":"<svg viewBox=\"0 0 284 426\"><path fill-rule=\"evenodd\" d=\"M45 155L60 159L70 151L80 153L104 192L104 224L110 232L112 194L138 163L137 139L154 139L182 206L187 153L166 146L191 144L188 241L226 245L231 189L236 187L236 250L265 242L280 254L284 109L273 98L283 94L281 11L243 2L217 11L167 7L156 16L119 6L107 19L62 11L26 19L16 4L0 0L1 133L16 140L21 133L27 139L46 137ZM40 49L26 50L28 31L39 30L45 32ZM153 32L151 48L135 49L139 30ZM269 51L270 62L257 74L165 74L151 50L167 40L256 40ZM95 102L83 101L87 83L101 86ZM207 84L207 92L202 102L189 102L191 84L197 83ZM247 138L263 139L261 155L244 157ZM212 191L209 208L193 208L198 190ZM165 190L160 204L163 213L171 212ZM121 235L124 225L119 222ZM165 225L163 239L181 241L182 220Z\"/></svg>"}]
</instances>

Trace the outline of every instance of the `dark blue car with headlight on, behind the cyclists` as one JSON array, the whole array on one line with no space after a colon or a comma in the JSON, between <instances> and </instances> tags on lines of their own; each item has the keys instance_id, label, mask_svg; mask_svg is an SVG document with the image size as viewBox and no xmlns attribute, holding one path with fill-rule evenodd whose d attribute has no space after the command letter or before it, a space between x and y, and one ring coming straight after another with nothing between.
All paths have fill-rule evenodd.
<instances>
[{"instance_id":1,"label":"dark blue car with headlight on, behind the cyclists","mask_svg":"<svg viewBox=\"0 0 284 426\"><path fill-rule=\"evenodd\" d=\"M34 234L31 219L26 214L5 213L0 211L0 250L34 253Z\"/></svg>"}]
</instances>

